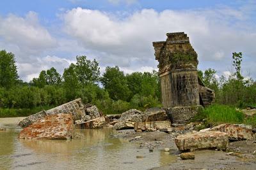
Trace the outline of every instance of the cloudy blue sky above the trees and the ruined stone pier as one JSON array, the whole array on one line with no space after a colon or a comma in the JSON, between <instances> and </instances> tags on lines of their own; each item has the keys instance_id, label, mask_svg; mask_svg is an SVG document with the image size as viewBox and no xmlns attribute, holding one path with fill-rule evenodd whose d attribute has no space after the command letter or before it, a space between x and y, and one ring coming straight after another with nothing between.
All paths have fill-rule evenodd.
<instances>
[{"instance_id":1,"label":"cloudy blue sky above the trees and the ruined stone pier","mask_svg":"<svg viewBox=\"0 0 256 170\"><path fill-rule=\"evenodd\" d=\"M157 69L152 41L184 31L199 69L232 72L232 52L243 52L243 74L256 78L255 1L65 0L0 2L0 49L15 53L20 78L63 69L76 55L97 59L101 71Z\"/></svg>"}]
</instances>

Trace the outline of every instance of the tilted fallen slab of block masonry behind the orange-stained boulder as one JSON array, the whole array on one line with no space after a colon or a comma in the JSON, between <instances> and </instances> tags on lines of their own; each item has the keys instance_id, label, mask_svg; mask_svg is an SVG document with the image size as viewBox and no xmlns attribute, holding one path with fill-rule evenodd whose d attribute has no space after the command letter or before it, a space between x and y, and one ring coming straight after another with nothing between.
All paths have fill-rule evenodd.
<instances>
[{"instance_id":1,"label":"tilted fallen slab of block masonry behind the orange-stained boulder","mask_svg":"<svg viewBox=\"0 0 256 170\"><path fill-rule=\"evenodd\" d=\"M51 110L47 110L47 111L43 110L34 115L30 115L29 117L20 121L19 125L20 125L20 127L23 127L23 128L28 127L29 125L33 124L33 122L41 120L46 115L53 115L53 114L58 114L58 113L72 114L72 118L74 121L81 120L82 115L85 115L84 105L81 101L81 98L78 98L74 101L70 101L65 104L62 104L61 106L52 108Z\"/></svg>"}]
</instances>

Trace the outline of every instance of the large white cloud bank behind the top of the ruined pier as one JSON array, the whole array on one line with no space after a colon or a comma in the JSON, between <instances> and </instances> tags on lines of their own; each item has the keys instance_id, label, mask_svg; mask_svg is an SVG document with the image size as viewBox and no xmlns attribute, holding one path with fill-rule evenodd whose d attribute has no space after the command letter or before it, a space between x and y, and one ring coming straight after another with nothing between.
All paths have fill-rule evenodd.
<instances>
[{"instance_id":1,"label":"large white cloud bank behind the top of the ruined pier","mask_svg":"<svg viewBox=\"0 0 256 170\"><path fill-rule=\"evenodd\" d=\"M227 7L193 11L141 10L122 19L113 13L83 8L63 14L65 32L84 48L101 56L102 64L117 64L134 71L142 66L156 68L152 41L163 41L166 32L188 34L201 65L206 63L202 69L227 70L232 52L245 52L246 57L256 61L253 59L255 27L244 24L247 17L243 8Z\"/></svg>"}]
</instances>

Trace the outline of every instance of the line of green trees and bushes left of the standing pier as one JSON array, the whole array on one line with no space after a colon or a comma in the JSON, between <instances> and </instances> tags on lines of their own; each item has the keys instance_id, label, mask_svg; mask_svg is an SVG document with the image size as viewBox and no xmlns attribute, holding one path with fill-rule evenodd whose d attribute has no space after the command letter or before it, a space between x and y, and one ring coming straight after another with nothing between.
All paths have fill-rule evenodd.
<instances>
[{"instance_id":1,"label":"line of green trees and bushes left of the standing pier","mask_svg":"<svg viewBox=\"0 0 256 170\"><path fill-rule=\"evenodd\" d=\"M51 67L26 83L19 80L13 53L2 50L0 60L0 108L51 108L77 97L96 104L104 113L161 106L156 71L124 74L115 66L106 67L100 76L99 62L82 55L63 75Z\"/></svg>"}]
</instances>

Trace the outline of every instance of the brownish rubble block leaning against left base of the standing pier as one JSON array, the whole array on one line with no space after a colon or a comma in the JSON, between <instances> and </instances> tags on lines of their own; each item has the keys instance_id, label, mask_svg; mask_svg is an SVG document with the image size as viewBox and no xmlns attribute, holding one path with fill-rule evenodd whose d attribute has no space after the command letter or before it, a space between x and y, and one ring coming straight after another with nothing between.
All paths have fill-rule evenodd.
<instances>
[{"instance_id":1,"label":"brownish rubble block leaning against left base of the standing pier","mask_svg":"<svg viewBox=\"0 0 256 170\"><path fill-rule=\"evenodd\" d=\"M149 108L143 113L142 122L168 120L166 111L161 108Z\"/></svg>"}]
</instances>

